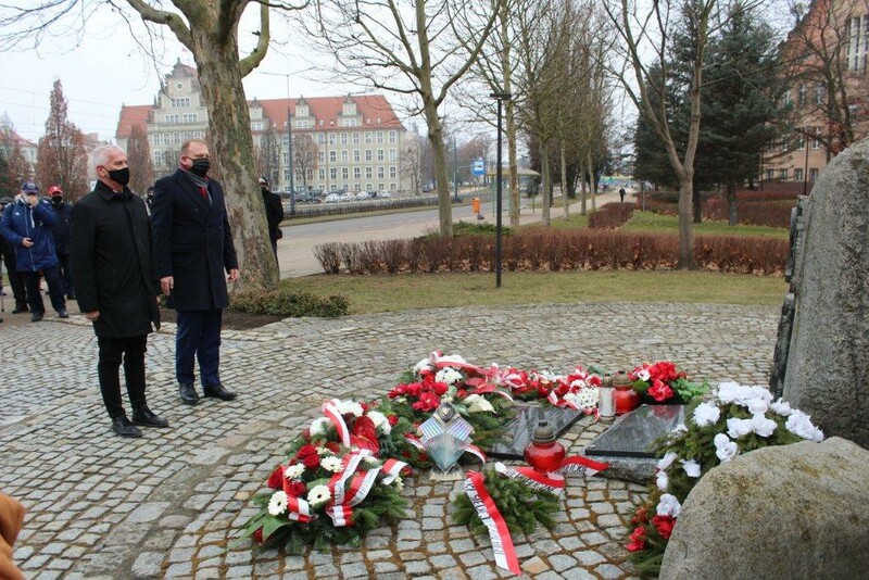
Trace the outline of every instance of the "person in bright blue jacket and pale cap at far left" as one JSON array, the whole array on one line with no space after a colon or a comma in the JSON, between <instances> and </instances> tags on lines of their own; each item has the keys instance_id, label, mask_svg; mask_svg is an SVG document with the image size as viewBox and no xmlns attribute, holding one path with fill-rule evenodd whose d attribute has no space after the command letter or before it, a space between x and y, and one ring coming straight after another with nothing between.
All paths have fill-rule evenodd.
<instances>
[{"instance_id":1,"label":"person in bright blue jacket and pale cap at far left","mask_svg":"<svg viewBox=\"0 0 869 580\"><path fill-rule=\"evenodd\" d=\"M39 272L48 283L51 305L61 318L68 318L63 286L58 276L58 256L54 253L54 237L51 226L56 217L50 203L39 200L39 187L33 181L21 185L21 194L3 210L0 218L0 236L15 247L15 267L22 273L27 288L27 304L30 320L38 323L46 314L42 293L39 291Z\"/></svg>"}]
</instances>

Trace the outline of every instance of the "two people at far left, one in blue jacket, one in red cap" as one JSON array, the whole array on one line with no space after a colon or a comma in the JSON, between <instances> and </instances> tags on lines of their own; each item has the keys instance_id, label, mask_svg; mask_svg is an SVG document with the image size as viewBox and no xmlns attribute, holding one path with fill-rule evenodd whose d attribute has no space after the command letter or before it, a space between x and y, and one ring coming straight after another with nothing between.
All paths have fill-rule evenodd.
<instances>
[{"instance_id":1,"label":"two people at far left, one in blue jacket, one in red cap","mask_svg":"<svg viewBox=\"0 0 869 580\"><path fill-rule=\"evenodd\" d=\"M35 182L25 181L14 200L0 199L0 256L15 299L12 313L29 311L34 323L46 314L42 277L51 305L61 318L70 316L66 299L76 298L68 253L73 206L64 201L60 186L50 187L48 192L51 202L39 198Z\"/></svg>"}]
</instances>

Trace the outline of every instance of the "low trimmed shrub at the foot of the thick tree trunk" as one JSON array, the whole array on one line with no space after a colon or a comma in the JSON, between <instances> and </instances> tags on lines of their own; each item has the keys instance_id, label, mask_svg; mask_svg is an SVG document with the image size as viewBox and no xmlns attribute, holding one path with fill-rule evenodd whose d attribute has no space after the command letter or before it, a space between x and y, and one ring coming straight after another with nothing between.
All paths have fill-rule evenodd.
<instances>
[{"instance_id":1,"label":"low trimmed shrub at the foot of the thick tree trunk","mask_svg":"<svg viewBox=\"0 0 869 580\"><path fill-rule=\"evenodd\" d=\"M229 310L231 311L294 318L301 316L336 318L347 315L348 308L347 297L340 294L323 298L310 292L294 292L285 288L268 292L242 290L229 299Z\"/></svg>"}]
</instances>

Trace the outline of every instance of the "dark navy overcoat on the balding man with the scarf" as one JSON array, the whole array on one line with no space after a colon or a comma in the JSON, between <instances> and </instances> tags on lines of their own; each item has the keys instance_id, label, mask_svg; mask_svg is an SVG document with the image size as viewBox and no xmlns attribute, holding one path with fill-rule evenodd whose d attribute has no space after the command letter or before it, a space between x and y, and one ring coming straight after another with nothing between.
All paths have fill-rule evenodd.
<instances>
[{"instance_id":1,"label":"dark navy overcoat on the balding man with the scarf","mask_svg":"<svg viewBox=\"0 0 869 580\"><path fill-rule=\"evenodd\" d=\"M229 305L226 274L238 268L226 215L224 189L209 180L209 197L184 169L154 184L156 273L172 276L167 304L178 311L209 311Z\"/></svg>"}]
</instances>

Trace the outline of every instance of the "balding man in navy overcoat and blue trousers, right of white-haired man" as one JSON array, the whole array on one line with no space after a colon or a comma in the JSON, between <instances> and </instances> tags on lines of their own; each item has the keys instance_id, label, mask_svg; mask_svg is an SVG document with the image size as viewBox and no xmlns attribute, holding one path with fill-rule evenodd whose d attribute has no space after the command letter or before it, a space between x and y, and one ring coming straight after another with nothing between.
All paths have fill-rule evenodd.
<instances>
[{"instance_id":1,"label":"balding man in navy overcoat and blue trousers, right of white-haired man","mask_svg":"<svg viewBox=\"0 0 869 580\"><path fill-rule=\"evenodd\" d=\"M178 169L154 184L151 214L161 288L178 312L175 375L181 401L196 405L197 358L205 396L231 401L236 393L221 383L221 324L229 305L226 281L238 279L236 248L223 187L207 177L209 146L190 140L180 153Z\"/></svg>"}]
</instances>

